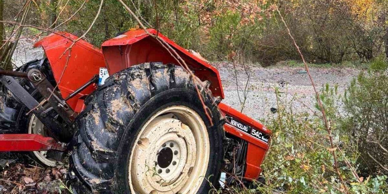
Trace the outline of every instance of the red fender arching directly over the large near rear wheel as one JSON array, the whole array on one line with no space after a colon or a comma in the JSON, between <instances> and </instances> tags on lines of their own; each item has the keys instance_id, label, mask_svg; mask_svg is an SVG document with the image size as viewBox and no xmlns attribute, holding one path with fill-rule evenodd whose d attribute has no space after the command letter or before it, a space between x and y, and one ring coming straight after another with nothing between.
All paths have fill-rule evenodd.
<instances>
[{"instance_id":1,"label":"red fender arching directly over the large near rear wheel","mask_svg":"<svg viewBox=\"0 0 388 194\"><path fill-rule=\"evenodd\" d=\"M220 74L217 69L155 29L147 29L147 32L143 29L130 30L102 43L102 53L109 74L145 62L182 64L182 60L178 59L179 57L174 52L179 55L195 76L202 81L210 81L210 90L213 96L224 98Z\"/></svg>"}]
</instances>

